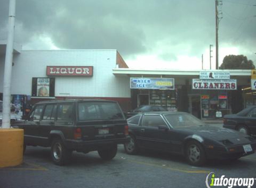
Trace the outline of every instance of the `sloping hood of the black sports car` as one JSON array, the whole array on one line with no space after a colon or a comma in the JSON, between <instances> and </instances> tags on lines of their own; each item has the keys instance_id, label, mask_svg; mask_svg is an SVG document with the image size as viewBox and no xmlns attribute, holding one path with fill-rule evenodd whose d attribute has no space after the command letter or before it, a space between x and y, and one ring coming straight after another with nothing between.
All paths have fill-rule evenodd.
<instances>
[{"instance_id":1,"label":"sloping hood of the black sports car","mask_svg":"<svg viewBox=\"0 0 256 188\"><path fill-rule=\"evenodd\" d=\"M204 125L198 127L183 127L179 129L184 129L186 131L189 131L191 134L199 135L203 138L210 138L218 141L225 139L231 140L247 137L247 135L240 133L239 131L234 131L231 129L211 125Z\"/></svg>"}]
</instances>

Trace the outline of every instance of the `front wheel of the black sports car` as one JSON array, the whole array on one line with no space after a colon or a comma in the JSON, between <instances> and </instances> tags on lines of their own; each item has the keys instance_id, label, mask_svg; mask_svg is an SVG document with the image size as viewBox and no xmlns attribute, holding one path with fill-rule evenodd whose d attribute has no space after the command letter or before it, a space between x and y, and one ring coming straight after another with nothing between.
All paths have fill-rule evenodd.
<instances>
[{"instance_id":1,"label":"front wheel of the black sports car","mask_svg":"<svg viewBox=\"0 0 256 188\"><path fill-rule=\"evenodd\" d=\"M201 166L206 163L205 151L197 141L190 141L187 144L186 158L188 163L193 166Z\"/></svg>"}]
</instances>

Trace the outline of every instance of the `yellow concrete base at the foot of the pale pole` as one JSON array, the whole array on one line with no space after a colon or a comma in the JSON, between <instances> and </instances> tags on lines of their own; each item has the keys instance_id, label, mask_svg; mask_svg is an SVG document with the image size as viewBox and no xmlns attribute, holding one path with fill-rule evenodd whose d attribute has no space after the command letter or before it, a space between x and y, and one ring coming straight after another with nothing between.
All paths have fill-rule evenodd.
<instances>
[{"instance_id":1,"label":"yellow concrete base at the foot of the pale pole","mask_svg":"<svg viewBox=\"0 0 256 188\"><path fill-rule=\"evenodd\" d=\"M23 129L0 129L0 168L23 162Z\"/></svg>"}]
</instances>

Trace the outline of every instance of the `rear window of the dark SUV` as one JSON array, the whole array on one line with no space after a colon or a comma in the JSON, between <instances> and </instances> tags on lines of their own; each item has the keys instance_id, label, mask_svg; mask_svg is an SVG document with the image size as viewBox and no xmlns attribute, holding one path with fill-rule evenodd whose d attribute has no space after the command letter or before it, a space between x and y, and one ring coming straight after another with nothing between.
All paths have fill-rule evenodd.
<instances>
[{"instance_id":1,"label":"rear window of the dark SUV","mask_svg":"<svg viewBox=\"0 0 256 188\"><path fill-rule=\"evenodd\" d=\"M115 102L79 102L78 120L124 119L121 109Z\"/></svg>"}]
</instances>

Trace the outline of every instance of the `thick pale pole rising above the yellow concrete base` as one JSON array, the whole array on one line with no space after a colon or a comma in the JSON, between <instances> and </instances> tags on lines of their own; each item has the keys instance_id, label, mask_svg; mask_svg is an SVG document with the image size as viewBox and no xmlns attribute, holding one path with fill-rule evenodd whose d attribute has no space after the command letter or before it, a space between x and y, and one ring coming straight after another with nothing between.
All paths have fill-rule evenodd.
<instances>
[{"instance_id":1,"label":"thick pale pole rising above the yellow concrete base","mask_svg":"<svg viewBox=\"0 0 256 188\"><path fill-rule=\"evenodd\" d=\"M11 117L11 78L13 66L13 41L14 41L14 21L15 21L16 0L9 1L9 18L8 18L8 39L5 53L4 64L4 94L3 94L3 128L10 128Z\"/></svg>"}]
</instances>

